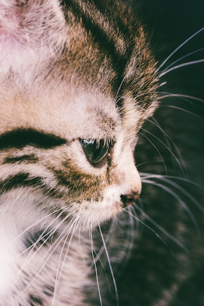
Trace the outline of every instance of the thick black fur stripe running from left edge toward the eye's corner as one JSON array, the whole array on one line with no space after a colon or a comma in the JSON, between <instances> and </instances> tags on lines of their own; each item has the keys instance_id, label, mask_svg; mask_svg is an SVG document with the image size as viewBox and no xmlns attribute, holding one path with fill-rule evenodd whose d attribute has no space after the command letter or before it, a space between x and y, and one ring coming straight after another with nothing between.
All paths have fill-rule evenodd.
<instances>
[{"instance_id":1,"label":"thick black fur stripe running from left edge toward the eye's corner","mask_svg":"<svg viewBox=\"0 0 204 306\"><path fill-rule=\"evenodd\" d=\"M67 141L59 136L34 129L16 129L0 135L0 150L8 148L21 149L25 146L51 149Z\"/></svg>"}]
</instances>

